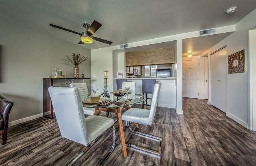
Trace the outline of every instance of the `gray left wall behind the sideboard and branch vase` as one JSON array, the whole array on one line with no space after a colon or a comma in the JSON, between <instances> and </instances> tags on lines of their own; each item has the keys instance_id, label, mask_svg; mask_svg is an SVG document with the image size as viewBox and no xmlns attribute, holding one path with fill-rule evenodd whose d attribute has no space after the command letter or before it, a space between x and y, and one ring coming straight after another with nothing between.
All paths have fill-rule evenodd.
<instances>
[{"instance_id":1,"label":"gray left wall behind the sideboard and branch vase","mask_svg":"<svg viewBox=\"0 0 256 166\"><path fill-rule=\"evenodd\" d=\"M90 58L90 49L38 32L0 16L0 94L14 102L10 121L42 113L42 78L59 68L73 77L66 55L79 52ZM80 75L91 77L90 59L80 66Z\"/></svg>"}]
</instances>

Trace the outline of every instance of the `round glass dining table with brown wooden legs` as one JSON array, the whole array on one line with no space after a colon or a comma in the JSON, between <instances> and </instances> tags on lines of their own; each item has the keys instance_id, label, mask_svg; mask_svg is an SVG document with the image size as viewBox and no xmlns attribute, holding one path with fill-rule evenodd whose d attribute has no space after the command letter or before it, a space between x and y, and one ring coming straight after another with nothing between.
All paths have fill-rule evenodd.
<instances>
[{"instance_id":1,"label":"round glass dining table with brown wooden legs","mask_svg":"<svg viewBox=\"0 0 256 166\"><path fill-rule=\"evenodd\" d=\"M86 108L94 108L94 115L99 115L101 111L108 113L116 113L117 121L118 121L118 129L119 129L119 137L122 144L122 152L124 157L127 157L126 146L125 146L125 138L124 138L124 129L122 123L121 111L125 108L130 109L130 107L134 104L141 103L144 101L144 95L138 93L130 93L128 95L124 95L123 97L116 97L112 93L110 93L109 97L101 97L101 99L112 101L108 106L99 106L96 104L86 104L83 102L83 107ZM138 128L138 124L135 124L136 128Z\"/></svg>"}]
</instances>

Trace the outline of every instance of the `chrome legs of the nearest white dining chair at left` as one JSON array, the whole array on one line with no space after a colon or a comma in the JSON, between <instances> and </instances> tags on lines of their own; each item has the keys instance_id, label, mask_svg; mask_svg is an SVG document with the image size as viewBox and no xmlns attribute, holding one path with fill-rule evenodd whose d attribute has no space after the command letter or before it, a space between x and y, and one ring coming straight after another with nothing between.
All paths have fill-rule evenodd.
<instances>
[{"instance_id":1,"label":"chrome legs of the nearest white dining chair at left","mask_svg":"<svg viewBox=\"0 0 256 166\"><path fill-rule=\"evenodd\" d=\"M116 134L115 134L116 128L113 125L113 141L112 141L112 147L109 150L109 152L102 158L102 160L100 161L100 166L102 166L104 164L104 162L106 162L106 160L108 159L108 157L110 156L110 154L114 151L114 148L116 146ZM90 148L95 141L93 141L92 143L88 144L88 147ZM85 151L83 150L82 152L80 152L69 164L67 164L66 166L72 166L82 155L85 154Z\"/></svg>"}]
</instances>

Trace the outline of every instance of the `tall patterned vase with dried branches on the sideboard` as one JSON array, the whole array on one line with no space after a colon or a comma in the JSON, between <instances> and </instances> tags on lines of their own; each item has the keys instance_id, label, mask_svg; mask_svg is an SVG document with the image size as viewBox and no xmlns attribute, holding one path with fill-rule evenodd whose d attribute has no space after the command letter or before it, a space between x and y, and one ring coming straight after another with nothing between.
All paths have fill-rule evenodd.
<instances>
[{"instance_id":1,"label":"tall patterned vase with dried branches on the sideboard","mask_svg":"<svg viewBox=\"0 0 256 166\"><path fill-rule=\"evenodd\" d=\"M64 59L64 61L67 61L69 63L74 64L74 78L79 77L79 65L83 63L84 61L88 60L89 58L87 56L82 56L80 53L72 53L72 57L68 57L66 55L67 59Z\"/></svg>"}]
</instances>

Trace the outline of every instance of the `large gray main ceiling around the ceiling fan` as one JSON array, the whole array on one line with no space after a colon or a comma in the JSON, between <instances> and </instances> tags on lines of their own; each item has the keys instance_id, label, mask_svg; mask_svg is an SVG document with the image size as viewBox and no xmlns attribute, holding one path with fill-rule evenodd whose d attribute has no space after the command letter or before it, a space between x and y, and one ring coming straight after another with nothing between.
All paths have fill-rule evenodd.
<instances>
[{"instance_id":1,"label":"large gray main ceiling around the ceiling fan","mask_svg":"<svg viewBox=\"0 0 256 166\"><path fill-rule=\"evenodd\" d=\"M226 15L231 6L237 11ZM0 15L72 43L78 43L78 35L49 23L83 32L82 23L96 20L102 27L94 36L112 45L233 25L254 8L256 0L0 0ZM109 45L95 41L83 46Z\"/></svg>"}]
</instances>

